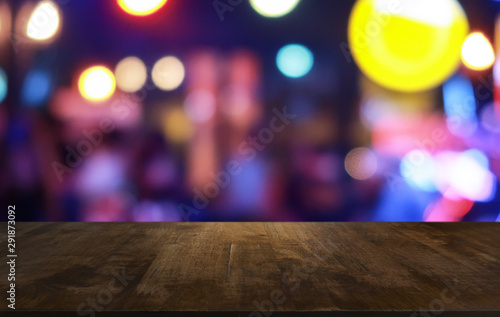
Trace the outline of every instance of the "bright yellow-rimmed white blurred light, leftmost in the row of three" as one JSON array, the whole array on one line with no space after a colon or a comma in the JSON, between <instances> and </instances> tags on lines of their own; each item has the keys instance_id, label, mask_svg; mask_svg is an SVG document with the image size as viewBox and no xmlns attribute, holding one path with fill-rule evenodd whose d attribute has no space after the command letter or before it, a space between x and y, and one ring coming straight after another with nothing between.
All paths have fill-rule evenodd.
<instances>
[{"instance_id":1,"label":"bright yellow-rimmed white blurred light, leftmost in the row of three","mask_svg":"<svg viewBox=\"0 0 500 317\"><path fill-rule=\"evenodd\" d=\"M90 67L78 79L78 89L89 101L104 101L113 95L115 88L115 76L104 66Z\"/></svg>"}]
</instances>

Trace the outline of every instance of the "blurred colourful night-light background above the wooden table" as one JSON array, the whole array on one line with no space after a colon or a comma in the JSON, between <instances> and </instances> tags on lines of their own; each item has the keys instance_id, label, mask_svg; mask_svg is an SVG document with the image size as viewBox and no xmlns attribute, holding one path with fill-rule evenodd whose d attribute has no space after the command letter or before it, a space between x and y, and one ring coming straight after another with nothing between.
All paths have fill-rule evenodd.
<instances>
[{"instance_id":1,"label":"blurred colourful night-light background above the wooden table","mask_svg":"<svg viewBox=\"0 0 500 317\"><path fill-rule=\"evenodd\" d=\"M0 201L20 221L500 221L498 13L0 1Z\"/></svg>"}]
</instances>

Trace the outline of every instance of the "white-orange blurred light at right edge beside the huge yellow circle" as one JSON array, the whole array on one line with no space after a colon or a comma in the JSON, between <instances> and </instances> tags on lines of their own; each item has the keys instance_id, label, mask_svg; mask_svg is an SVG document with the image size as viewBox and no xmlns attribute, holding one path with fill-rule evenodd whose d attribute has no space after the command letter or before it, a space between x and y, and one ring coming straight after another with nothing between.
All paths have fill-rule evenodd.
<instances>
[{"instance_id":1,"label":"white-orange blurred light at right edge beside the huge yellow circle","mask_svg":"<svg viewBox=\"0 0 500 317\"><path fill-rule=\"evenodd\" d=\"M495 53L490 41L480 32L471 33L462 46L462 61L472 70L493 66Z\"/></svg>"}]
</instances>

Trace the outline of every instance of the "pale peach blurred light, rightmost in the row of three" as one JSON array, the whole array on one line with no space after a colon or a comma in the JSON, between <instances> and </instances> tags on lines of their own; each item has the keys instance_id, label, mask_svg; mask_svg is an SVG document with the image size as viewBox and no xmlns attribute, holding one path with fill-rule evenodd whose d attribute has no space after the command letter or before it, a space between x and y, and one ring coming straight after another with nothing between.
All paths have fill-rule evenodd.
<instances>
[{"instance_id":1,"label":"pale peach blurred light, rightmost in the row of three","mask_svg":"<svg viewBox=\"0 0 500 317\"><path fill-rule=\"evenodd\" d=\"M153 82L161 90L174 90L184 81L186 72L182 62L174 56L167 56L153 66Z\"/></svg>"}]
</instances>

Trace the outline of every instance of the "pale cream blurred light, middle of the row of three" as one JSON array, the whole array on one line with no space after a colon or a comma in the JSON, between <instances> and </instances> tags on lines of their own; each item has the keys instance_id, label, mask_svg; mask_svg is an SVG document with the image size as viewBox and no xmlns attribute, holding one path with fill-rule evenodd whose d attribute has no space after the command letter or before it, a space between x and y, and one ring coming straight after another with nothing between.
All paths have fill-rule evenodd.
<instances>
[{"instance_id":1,"label":"pale cream blurred light, middle of the row of three","mask_svg":"<svg viewBox=\"0 0 500 317\"><path fill-rule=\"evenodd\" d=\"M115 68L116 85L124 92L140 90L148 78L146 65L137 57L122 59Z\"/></svg>"}]
</instances>

